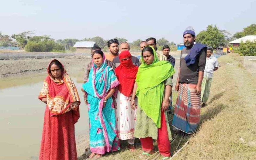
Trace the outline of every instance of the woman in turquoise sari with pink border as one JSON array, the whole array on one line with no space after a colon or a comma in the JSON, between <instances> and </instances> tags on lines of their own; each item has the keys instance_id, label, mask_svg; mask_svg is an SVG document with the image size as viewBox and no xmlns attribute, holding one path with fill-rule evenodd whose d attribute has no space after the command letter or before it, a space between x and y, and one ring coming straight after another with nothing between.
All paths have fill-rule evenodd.
<instances>
[{"instance_id":1,"label":"woman in turquoise sari with pink border","mask_svg":"<svg viewBox=\"0 0 256 160\"><path fill-rule=\"evenodd\" d=\"M100 158L105 152L120 149L112 98L119 81L114 70L107 66L101 50L95 50L92 57L94 65L87 82L83 84L83 90L88 95L89 135L92 151L89 158Z\"/></svg>"}]
</instances>

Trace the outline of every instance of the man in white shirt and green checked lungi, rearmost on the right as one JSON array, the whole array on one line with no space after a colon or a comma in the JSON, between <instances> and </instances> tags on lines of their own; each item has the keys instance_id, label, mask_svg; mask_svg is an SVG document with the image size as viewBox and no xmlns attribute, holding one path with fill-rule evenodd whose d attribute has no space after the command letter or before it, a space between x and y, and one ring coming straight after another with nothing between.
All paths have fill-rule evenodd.
<instances>
[{"instance_id":1,"label":"man in white shirt and green checked lungi, rearmost on the right","mask_svg":"<svg viewBox=\"0 0 256 160\"><path fill-rule=\"evenodd\" d=\"M207 46L204 78L202 80L201 102L203 103L201 107L205 107L205 104L209 98L213 71L219 68L217 58L212 56L212 52L213 48Z\"/></svg>"}]
</instances>

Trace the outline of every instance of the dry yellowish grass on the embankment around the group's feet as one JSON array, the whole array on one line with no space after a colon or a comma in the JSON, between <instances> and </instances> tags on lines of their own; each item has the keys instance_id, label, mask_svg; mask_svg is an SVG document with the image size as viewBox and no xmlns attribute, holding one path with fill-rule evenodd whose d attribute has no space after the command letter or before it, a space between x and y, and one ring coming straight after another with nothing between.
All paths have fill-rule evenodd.
<instances>
[{"instance_id":1,"label":"dry yellowish grass on the embankment around the group's feet","mask_svg":"<svg viewBox=\"0 0 256 160\"><path fill-rule=\"evenodd\" d=\"M189 144L174 157L175 160L256 159L256 77L240 67L243 58L238 54L225 55L218 61L221 67L214 73L207 106L201 110L200 126L195 134L182 139L178 149L187 140ZM177 92L174 92L174 104L176 99ZM171 145L172 155L178 150L180 138ZM135 152L130 152L126 144L121 142L120 151L108 153L101 159L140 159L139 140L136 139ZM156 144L155 148L157 150ZM86 159L87 155L89 151L79 160Z\"/></svg>"}]
</instances>

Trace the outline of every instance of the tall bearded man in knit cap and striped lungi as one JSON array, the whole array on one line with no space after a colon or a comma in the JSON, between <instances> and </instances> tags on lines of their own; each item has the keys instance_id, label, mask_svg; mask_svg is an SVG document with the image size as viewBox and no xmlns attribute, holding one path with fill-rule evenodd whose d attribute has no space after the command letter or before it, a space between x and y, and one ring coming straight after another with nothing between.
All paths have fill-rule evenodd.
<instances>
[{"instance_id":1,"label":"tall bearded man in knit cap and striped lungi","mask_svg":"<svg viewBox=\"0 0 256 160\"><path fill-rule=\"evenodd\" d=\"M201 85L205 70L207 47L196 43L195 31L187 27L183 33L184 46L175 90L178 98L172 120L173 130L192 134L200 122Z\"/></svg>"}]
</instances>

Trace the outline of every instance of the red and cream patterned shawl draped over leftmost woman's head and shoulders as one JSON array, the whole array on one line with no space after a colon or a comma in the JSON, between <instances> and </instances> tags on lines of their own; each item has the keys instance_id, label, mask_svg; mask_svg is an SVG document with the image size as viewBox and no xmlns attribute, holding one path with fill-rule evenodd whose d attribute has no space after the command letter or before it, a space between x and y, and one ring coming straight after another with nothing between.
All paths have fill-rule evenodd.
<instances>
[{"instance_id":1,"label":"red and cream patterned shawl draped over leftmost woman's head and shoulders","mask_svg":"<svg viewBox=\"0 0 256 160\"><path fill-rule=\"evenodd\" d=\"M44 80L44 85L38 98L42 100L42 98L47 97L47 107L49 107L51 116L72 112L74 123L76 123L80 117L80 99L77 88L59 61L63 68L62 80L53 78L49 69L50 64L54 61L58 60L54 59L49 63L47 68L48 76Z\"/></svg>"}]
</instances>

